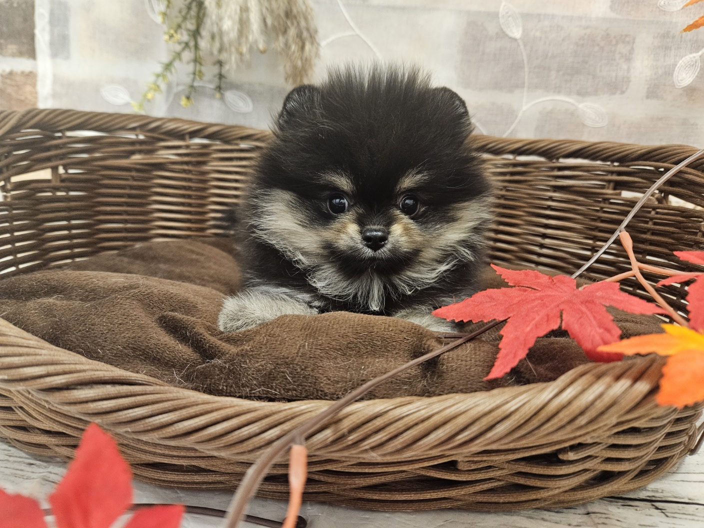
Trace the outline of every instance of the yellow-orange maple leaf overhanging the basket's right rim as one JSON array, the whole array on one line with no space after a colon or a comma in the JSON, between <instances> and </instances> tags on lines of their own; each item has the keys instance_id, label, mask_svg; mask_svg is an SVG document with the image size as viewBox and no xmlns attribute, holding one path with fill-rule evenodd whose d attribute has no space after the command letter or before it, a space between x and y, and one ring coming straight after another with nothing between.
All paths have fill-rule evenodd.
<instances>
[{"instance_id":1,"label":"yellow-orange maple leaf overhanging the basket's right rim","mask_svg":"<svg viewBox=\"0 0 704 528\"><path fill-rule=\"evenodd\" d=\"M665 334L631 337L602 345L600 352L627 356L656 352L669 356L662 367L660 391L655 401L661 406L683 408L704 400L704 335L677 325L662 325Z\"/></svg>"}]
</instances>

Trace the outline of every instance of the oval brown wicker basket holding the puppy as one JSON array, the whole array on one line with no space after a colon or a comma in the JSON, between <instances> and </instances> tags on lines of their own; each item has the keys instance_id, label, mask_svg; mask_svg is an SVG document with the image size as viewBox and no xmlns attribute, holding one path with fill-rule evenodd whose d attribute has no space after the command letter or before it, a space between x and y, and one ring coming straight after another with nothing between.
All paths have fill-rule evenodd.
<instances>
[{"instance_id":1,"label":"oval brown wicker basket holding the puppy","mask_svg":"<svg viewBox=\"0 0 704 528\"><path fill-rule=\"evenodd\" d=\"M24 273L139 241L218 236L269 133L138 115L0 112L1 270ZM570 273L689 146L478 136L499 189L492 260ZM636 255L677 268L704 233L704 161L634 218ZM32 173L27 175L27 173ZM614 248L589 269L629 269ZM636 284L629 285L644 295ZM665 290L684 310L678 287ZM381 510L510 510L622 494L697 444L701 406L653 401L662 360L578 367L551 383L362 401L308 441L306 498ZM0 436L69 458L89 421L112 432L139 479L232 489L272 441L330 405L177 389L51 346L0 320ZM285 498L284 463L260 488Z\"/></svg>"}]
</instances>

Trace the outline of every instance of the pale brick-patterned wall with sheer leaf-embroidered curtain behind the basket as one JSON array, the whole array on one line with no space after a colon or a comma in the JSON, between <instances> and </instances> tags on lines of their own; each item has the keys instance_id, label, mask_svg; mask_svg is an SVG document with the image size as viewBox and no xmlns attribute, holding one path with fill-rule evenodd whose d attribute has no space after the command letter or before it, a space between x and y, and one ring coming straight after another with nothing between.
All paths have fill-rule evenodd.
<instances>
[{"instance_id":1,"label":"pale brick-patterned wall with sheer leaf-embroidered curtain behind the basket","mask_svg":"<svg viewBox=\"0 0 704 528\"><path fill-rule=\"evenodd\" d=\"M419 63L467 101L477 127L512 137L704 146L704 4L686 0L313 0L316 77L344 61ZM0 0L0 109L132 112L169 55L160 0ZM180 81L187 66L182 66ZM172 82L146 106L267 127L290 89L275 51L208 75L194 104Z\"/></svg>"}]
</instances>

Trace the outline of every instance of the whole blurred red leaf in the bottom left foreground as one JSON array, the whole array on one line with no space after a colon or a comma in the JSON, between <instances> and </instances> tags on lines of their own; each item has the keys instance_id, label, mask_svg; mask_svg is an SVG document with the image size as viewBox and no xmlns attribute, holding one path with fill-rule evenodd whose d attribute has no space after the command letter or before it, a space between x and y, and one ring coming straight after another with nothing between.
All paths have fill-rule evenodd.
<instances>
[{"instance_id":1,"label":"whole blurred red leaf in the bottom left foreground","mask_svg":"<svg viewBox=\"0 0 704 528\"><path fill-rule=\"evenodd\" d=\"M132 504L132 472L115 441L96 424L84 431L73 462L49 496L56 528L110 528ZM144 508L125 528L178 528L182 505ZM46 528L39 503L0 490L0 528Z\"/></svg>"}]
</instances>

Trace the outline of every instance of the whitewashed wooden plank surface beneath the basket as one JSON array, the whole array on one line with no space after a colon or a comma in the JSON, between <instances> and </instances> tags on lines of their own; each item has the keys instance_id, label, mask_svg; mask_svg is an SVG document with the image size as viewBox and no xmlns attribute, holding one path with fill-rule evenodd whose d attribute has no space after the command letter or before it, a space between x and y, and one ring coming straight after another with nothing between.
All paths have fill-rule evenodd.
<instances>
[{"instance_id":1,"label":"whitewashed wooden plank surface beneath the basket","mask_svg":"<svg viewBox=\"0 0 704 528\"><path fill-rule=\"evenodd\" d=\"M0 441L0 487L13 493L45 498L61 479L65 464L34 458ZM137 503L184 503L224 510L230 494L181 491L135 482ZM282 520L286 505L256 499L249 513ZM702 528L704 527L704 450L690 456L676 470L650 486L620 497L560 508L508 513L435 510L385 513L354 510L322 503L306 503L301 515L310 528ZM221 521L187 515L182 528L218 528ZM253 524L244 524L254 528Z\"/></svg>"}]
</instances>

